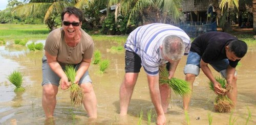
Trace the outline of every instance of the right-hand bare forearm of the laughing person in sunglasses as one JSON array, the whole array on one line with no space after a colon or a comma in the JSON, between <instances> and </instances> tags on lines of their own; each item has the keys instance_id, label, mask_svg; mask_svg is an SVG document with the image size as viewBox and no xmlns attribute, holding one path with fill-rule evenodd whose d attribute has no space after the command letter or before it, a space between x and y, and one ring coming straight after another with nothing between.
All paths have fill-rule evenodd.
<instances>
[{"instance_id":1,"label":"right-hand bare forearm of the laughing person in sunglasses","mask_svg":"<svg viewBox=\"0 0 256 125\"><path fill-rule=\"evenodd\" d=\"M75 82L74 83L78 83L79 80L81 79L81 77L83 76L83 74L88 70L90 63L91 63L92 59L83 59L77 72L76 72L76 77L75 77Z\"/></svg>"}]
</instances>

